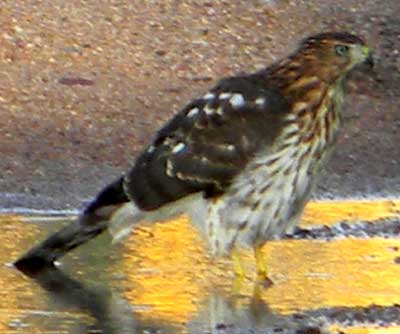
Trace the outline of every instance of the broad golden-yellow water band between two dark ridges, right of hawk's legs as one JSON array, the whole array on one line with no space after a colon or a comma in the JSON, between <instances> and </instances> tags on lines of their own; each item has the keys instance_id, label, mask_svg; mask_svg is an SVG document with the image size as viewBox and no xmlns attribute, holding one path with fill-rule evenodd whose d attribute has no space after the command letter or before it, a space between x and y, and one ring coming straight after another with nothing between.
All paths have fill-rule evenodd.
<instances>
[{"instance_id":1,"label":"broad golden-yellow water band between two dark ridges, right of hawk's legs","mask_svg":"<svg viewBox=\"0 0 400 334\"><path fill-rule=\"evenodd\" d=\"M263 298L279 313L321 307L390 306L399 303L399 240L267 244L267 264L276 286Z\"/></svg>"}]
</instances>

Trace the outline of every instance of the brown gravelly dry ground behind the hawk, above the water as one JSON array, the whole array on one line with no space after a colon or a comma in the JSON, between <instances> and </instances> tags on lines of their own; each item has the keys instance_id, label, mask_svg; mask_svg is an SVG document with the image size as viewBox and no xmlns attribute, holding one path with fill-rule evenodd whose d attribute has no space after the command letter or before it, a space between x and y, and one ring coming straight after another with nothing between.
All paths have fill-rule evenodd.
<instances>
[{"instance_id":1,"label":"brown gravelly dry ground behind the hawk, above the water","mask_svg":"<svg viewBox=\"0 0 400 334\"><path fill-rule=\"evenodd\" d=\"M2 0L0 207L79 208L218 78L325 30L364 36L377 66L349 83L317 196L398 195L399 17L398 0Z\"/></svg>"}]
</instances>

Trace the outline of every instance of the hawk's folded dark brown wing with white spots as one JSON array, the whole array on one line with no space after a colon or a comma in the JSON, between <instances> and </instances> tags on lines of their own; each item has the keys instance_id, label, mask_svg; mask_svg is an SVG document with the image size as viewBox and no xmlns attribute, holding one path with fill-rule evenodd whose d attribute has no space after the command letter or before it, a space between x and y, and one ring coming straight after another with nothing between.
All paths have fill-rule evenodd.
<instances>
[{"instance_id":1,"label":"hawk's folded dark brown wing with white spots","mask_svg":"<svg viewBox=\"0 0 400 334\"><path fill-rule=\"evenodd\" d=\"M195 192L223 193L272 145L289 110L257 75L222 80L167 123L126 174L124 189L144 210Z\"/></svg>"}]
</instances>

